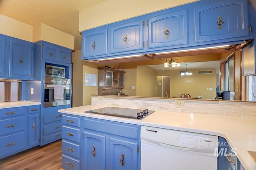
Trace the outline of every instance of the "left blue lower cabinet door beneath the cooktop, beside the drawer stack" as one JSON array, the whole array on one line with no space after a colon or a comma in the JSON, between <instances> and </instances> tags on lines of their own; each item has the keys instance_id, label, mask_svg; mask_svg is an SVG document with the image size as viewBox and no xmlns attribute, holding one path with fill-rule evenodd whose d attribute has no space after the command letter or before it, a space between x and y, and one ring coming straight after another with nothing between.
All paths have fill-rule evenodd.
<instances>
[{"instance_id":1,"label":"left blue lower cabinet door beneath the cooktop, beside the drawer stack","mask_svg":"<svg viewBox=\"0 0 256 170\"><path fill-rule=\"evenodd\" d=\"M105 143L105 136L84 131L86 170L105 170Z\"/></svg>"}]
</instances>

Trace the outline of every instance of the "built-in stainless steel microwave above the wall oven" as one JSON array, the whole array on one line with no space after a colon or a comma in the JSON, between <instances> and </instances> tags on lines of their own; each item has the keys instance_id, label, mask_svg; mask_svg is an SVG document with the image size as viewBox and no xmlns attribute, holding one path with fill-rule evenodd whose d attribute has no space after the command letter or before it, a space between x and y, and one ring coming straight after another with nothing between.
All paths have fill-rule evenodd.
<instances>
[{"instance_id":1,"label":"built-in stainless steel microwave above the wall oven","mask_svg":"<svg viewBox=\"0 0 256 170\"><path fill-rule=\"evenodd\" d=\"M45 65L45 76L46 77L56 77L65 78L65 67Z\"/></svg>"}]
</instances>

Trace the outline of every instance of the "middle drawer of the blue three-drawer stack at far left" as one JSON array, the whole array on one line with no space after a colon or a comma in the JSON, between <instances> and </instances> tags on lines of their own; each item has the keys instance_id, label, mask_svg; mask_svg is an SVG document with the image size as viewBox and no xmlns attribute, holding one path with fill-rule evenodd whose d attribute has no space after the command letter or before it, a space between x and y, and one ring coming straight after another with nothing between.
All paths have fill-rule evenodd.
<instances>
[{"instance_id":1,"label":"middle drawer of the blue three-drawer stack at far left","mask_svg":"<svg viewBox=\"0 0 256 170\"><path fill-rule=\"evenodd\" d=\"M23 131L27 124L25 116L0 120L0 136L17 131Z\"/></svg>"}]
</instances>

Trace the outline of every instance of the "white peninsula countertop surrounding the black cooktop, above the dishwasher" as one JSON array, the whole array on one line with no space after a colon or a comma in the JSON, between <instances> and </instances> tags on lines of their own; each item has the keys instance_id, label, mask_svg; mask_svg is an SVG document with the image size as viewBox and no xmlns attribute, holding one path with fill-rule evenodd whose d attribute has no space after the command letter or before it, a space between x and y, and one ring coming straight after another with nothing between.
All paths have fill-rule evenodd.
<instances>
[{"instance_id":1,"label":"white peninsula countertop surrounding the black cooktop, above the dishwasher","mask_svg":"<svg viewBox=\"0 0 256 170\"><path fill-rule=\"evenodd\" d=\"M254 162L247 152L248 150L256 151L255 118L155 111L154 113L140 120L84 113L84 111L98 109L100 107L101 106L88 105L61 109L59 112L92 117L96 119L224 137L230 144L230 147L236 149L237 157L244 168L246 170L256 170L256 162Z\"/></svg>"}]
</instances>

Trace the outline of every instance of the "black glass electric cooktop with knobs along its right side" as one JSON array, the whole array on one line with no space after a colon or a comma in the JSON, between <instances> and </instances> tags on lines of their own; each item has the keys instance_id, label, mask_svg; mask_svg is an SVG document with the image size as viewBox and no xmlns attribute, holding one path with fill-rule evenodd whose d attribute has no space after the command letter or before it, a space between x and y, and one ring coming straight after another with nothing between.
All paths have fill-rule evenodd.
<instances>
[{"instance_id":1,"label":"black glass electric cooktop with knobs along its right side","mask_svg":"<svg viewBox=\"0 0 256 170\"><path fill-rule=\"evenodd\" d=\"M148 109L128 109L122 107L102 107L99 109L84 111L84 113L96 113L102 115L118 116L118 117L127 117L132 119L143 119L151 113L154 113L153 110Z\"/></svg>"}]
</instances>

